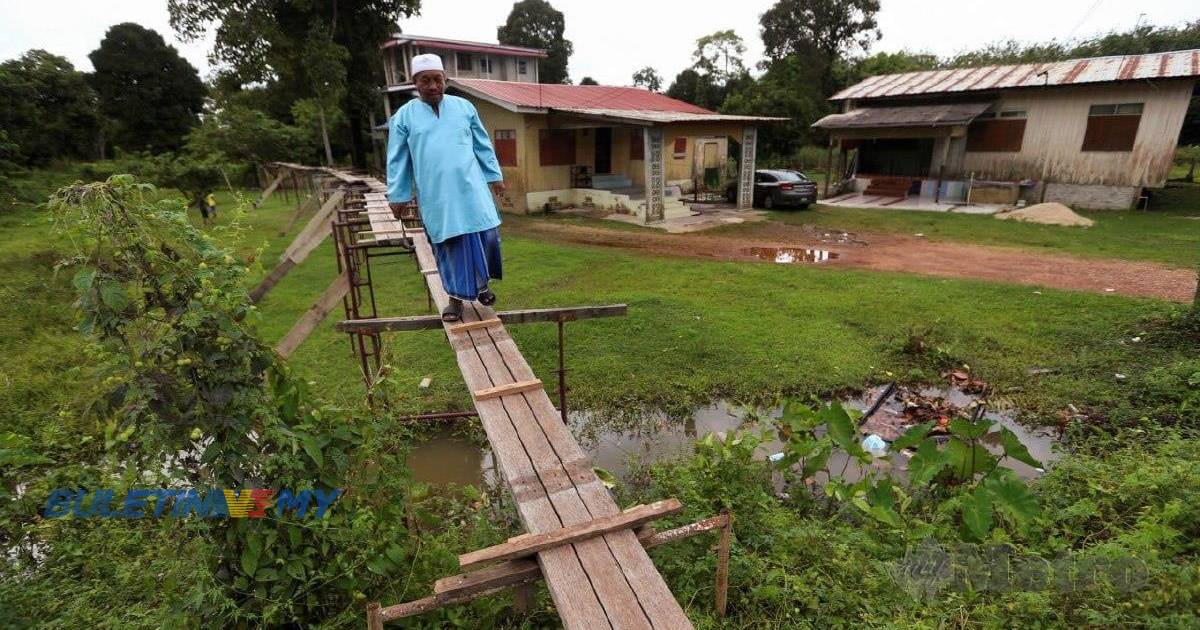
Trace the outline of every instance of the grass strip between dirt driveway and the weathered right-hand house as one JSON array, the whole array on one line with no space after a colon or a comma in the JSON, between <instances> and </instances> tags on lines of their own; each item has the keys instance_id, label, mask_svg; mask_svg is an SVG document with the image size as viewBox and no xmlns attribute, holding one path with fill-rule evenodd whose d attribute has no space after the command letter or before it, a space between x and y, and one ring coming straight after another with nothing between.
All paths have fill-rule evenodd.
<instances>
[{"instance_id":1,"label":"grass strip between dirt driveway and the weathered right-hand house","mask_svg":"<svg viewBox=\"0 0 1200 630\"><path fill-rule=\"evenodd\" d=\"M1152 210L1082 211L1090 228L997 221L990 216L910 210L834 208L774 211L770 218L790 224L847 232L924 234L926 239L1021 247L1087 258L1150 260L1171 266L1200 264L1200 186L1166 188ZM721 227L718 234L761 230L757 223Z\"/></svg>"}]
</instances>

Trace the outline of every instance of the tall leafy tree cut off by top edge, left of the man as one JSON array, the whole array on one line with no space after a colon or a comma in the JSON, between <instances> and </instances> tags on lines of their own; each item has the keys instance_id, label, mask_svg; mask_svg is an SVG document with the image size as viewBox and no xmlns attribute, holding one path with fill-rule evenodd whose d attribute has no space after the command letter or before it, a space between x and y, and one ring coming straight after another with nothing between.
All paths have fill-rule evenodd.
<instances>
[{"instance_id":1,"label":"tall leafy tree cut off by top edge, left of the man","mask_svg":"<svg viewBox=\"0 0 1200 630\"><path fill-rule=\"evenodd\" d=\"M209 58L228 76L226 85L266 84L275 110L283 113L302 98L322 98L318 85L330 79L306 67L305 49L314 30L328 29L330 46L344 50L346 89L338 104L350 156L356 167L366 167L364 132L368 113L379 107L383 83L379 46L396 30L396 20L420 8L420 0L168 0L167 7L172 28L185 40L215 28Z\"/></svg>"}]
</instances>

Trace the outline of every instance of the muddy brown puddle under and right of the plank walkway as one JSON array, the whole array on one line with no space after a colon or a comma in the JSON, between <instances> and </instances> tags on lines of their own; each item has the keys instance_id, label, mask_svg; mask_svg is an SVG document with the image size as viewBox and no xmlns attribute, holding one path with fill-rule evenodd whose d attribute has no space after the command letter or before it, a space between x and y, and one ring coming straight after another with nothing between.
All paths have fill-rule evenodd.
<instances>
[{"instance_id":1,"label":"muddy brown puddle under and right of the plank walkway","mask_svg":"<svg viewBox=\"0 0 1200 630\"><path fill-rule=\"evenodd\" d=\"M847 408L865 410L881 394L883 388L864 392L857 398L844 400ZM937 408L967 408L974 396L958 388L929 388L916 390L920 400L934 401ZM884 401L883 406L864 425L862 437L878 433L884 439L894 439L886 434L889 427L895 428L904 422L906 404L911 406L912 391L898 390ZM907 402L906 402L907 401ZM948 406L948 407L946 407ZM727 401L718 401L708 407L701 407L684 418L666 413L649 413L637 418L616 418L592 412L574 412L569 415L571 432L583 450L592 455L594 466L611 472L618 479L628 479L630 473L654 462L679 458L692 452L694 444L708 433L727 433L736 430L773 430L773 420L782 415L782 408L750 409ZM984 418L996 426L1013 431L1021 443L1028 448L1036 460L1049 466L1057 460L1054 451L1055 433L1052 430L1031 430L1015 420L1015 413L1009 410L989 410ZM985 443L988 450L1000 455L998 432L995 443ZM763 443L758 456L767 458L779 452L782 444L778 440ZM888 452L874 460L871 467L892 470L904 476L907 467L907 452ZM415 479L434 486L446 485L492 485L499 479L491 452L479 448L474 442L461 437L452 427L443 427L428 440L415 446L408 460ZM1025 479L1036 479L1044 470L1021 462L1004 460L1004 466ZM830 457L832 470L845 468L847 480L858 479L863 470L857 461L846 461L838 452ZM817 482L823 479L816 479Z\"/></svg>"}]
</instances>

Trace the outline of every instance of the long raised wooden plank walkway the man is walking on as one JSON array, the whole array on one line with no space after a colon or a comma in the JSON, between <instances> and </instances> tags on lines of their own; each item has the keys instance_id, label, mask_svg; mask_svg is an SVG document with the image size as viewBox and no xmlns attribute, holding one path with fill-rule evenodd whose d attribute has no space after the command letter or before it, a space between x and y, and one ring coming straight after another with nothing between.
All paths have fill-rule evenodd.
<instances>
[{"instance_id":1,"label":"long raised wooden plank walkway the man is walking on","mask_svg":"<svg viewBox=\"0 0 1200 630\"><path fill-rule=\"evenodd\" d=\"M378 226L380 230L376 239L410 238L420 269L437 269L424 232L406 229L391 218L383 184L371 178L361 181L370 188L364 199L372 229ZM449 304L440 277L422 276L440 311ZM496 317L480 304L463 308L464 323ZM473 392L536 379L503 323L443 328ZM592 469L592 458L563 425L545 389L516 390L476 398L475 409L527 532L544 534L619 515L620 509ZM536 558L569 629L691 628L631 529L541 550Z\"/></svg>"}]
</instances>

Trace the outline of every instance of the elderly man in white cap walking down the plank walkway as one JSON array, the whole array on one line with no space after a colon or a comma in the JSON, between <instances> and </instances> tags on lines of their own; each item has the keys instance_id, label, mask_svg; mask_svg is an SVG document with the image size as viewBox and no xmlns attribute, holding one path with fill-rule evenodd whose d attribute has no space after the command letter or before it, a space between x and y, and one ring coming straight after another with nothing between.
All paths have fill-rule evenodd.
<instances>
[{"instance_id":1,"label":"elderly man in white cap walking down the plank walkway","mask_svg":"<svg viewBox=\"0 0 1200 630\"><path fill-rule=\"evenodd\" d=\"M475 106L445 95L442 58L414 56L413 83L420 98L389 121L388 200L398 216L414 198L415 184L425 233L450 295L442 319L457 322L464 300L496 302L487 286L500 278L500 215L492 193L504 192L504 176Z\"/></svg>"}]
</instances>

